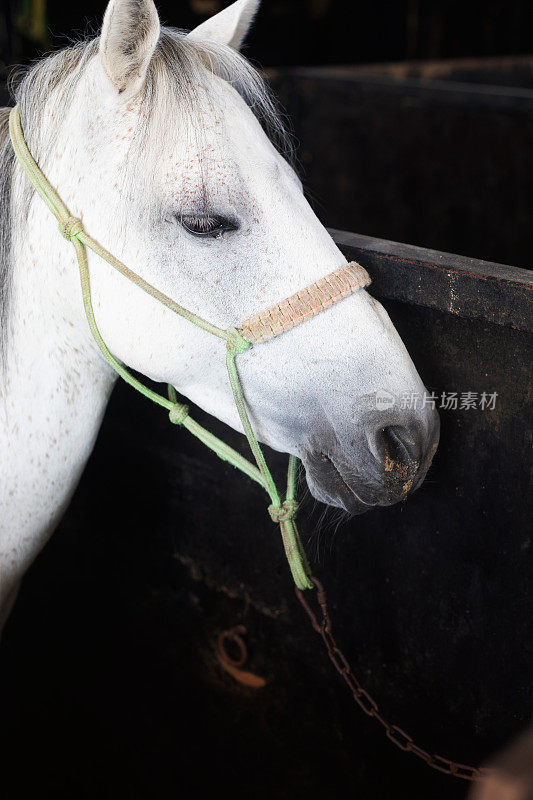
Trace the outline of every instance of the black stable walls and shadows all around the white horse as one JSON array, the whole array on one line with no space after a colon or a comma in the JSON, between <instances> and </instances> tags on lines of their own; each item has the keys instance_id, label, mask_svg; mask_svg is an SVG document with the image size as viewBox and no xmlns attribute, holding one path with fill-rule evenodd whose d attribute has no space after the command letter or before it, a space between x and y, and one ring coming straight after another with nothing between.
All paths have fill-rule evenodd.
<instances>
[{"instance_id":1,"label":"black stable walls and shadows all around the white horse","mask_svg":"<svg viewBox=\"0 0 533 800\"><path fill-rule=\"evenodd\" d=\"M158 3L178 27L215 5ZM49 0L42 19L37 6L4 0L4 77L96 31L104 4ZM264 0L245 53L270 69L322 219L527 267L531 16L526 2ZM383 712L432 752L477 764L531 715L531 340L481 301L462 313L488 285L474 261L481 278L457 289L453 313L425 283L439 254L412 265L422 288L380 294L378 267L394 281L410 263L393 251L381 266L347 256L369 266L426 385L498 391L500 404L443 412L435 464L406 504L337 526L308 501L302 531ZM269 457L281 474L284 458ZM236 624L261 691L218 662L217 636ZM295 603L261 493L124 386L0 654L1 800L465 796L353 706Z\"/></svg>"}]
</instances>

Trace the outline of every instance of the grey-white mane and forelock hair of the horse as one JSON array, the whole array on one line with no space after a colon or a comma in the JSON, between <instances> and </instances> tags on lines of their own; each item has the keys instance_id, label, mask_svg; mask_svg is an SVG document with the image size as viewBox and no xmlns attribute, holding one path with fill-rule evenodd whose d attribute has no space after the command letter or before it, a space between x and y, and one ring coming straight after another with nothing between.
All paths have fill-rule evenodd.
<instances>
[{"instance_id":1,"label":"grey-white mane and forelock hair of the horse","mask_svg":"<svg viewBox=\"0 0 533 800\"><path fill-rule=\"evenodd\" d=\"M30 151L43 166L51 151L58 129L68 112L75 89L88 63L97 55L99 38L73 43L19 70L11 81L11 93L20 109L22 125ZM162 28L151 59L142 114L134 141L143 142L151 130L164 131L168 126L168 102L171 99L176 118L192 121L200 104L209 93L206 75L212 73L229 83L244 99L259 119L267 134L286 156L292 156L292 146L283 120L269 89L257 70L231 47L211 41L194 41L185 31ZM198 87L205 90L199 93ZM45 109L53 98L63 113L47 117ZM14 154L9 141L8 115L10 109L0 109L0 367L7 347L9 285L11 273L11 242L15 225L24 224L33 189L28 184L23 203L13 213L11 184ZM183 112L183 113L180 113Z\"/></svg>"}]
</instances>

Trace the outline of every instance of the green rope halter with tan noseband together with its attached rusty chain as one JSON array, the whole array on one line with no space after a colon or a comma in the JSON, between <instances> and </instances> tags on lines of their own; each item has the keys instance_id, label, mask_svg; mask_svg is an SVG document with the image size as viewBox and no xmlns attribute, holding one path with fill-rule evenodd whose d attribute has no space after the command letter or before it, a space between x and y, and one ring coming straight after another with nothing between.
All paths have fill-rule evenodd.
<instances>
[{"instance_id":1,"label":"green rope halter with tan noseband together with its attached rusty chain","mask_svg":"<svg viewBox=\"0 0 533 800\"><path fill-rule=\"evenodd\" d=\"M370 283L370 278L366 270L355 263L348 264L336 270L329 276L315 282L310 287L306 287L306 289L297 292L296 295L282 301L274 309L268 309L252 317L250 320L247 320L243 324L247 336L236 328L219 328L197 316L192 311L178 305L172 298L167 297L167 295L147 283L140 275L132 272L125 264L115 258L112 253L102 247L84 230L81 220L71 215L67 206L61 200L59 194L31 155L24 139L17 106L15 106L9 114L9 134L15 155L26 172L30 183L44 200L52 214L57 218L61 235L72 242L74 246L80 271L81 291L87 322L102 355L126 383L149 400L152 400L152 402L166 408L169 412L170 421L173 424L186 428L206 447L216 453L219 458L232 464L245 475L248 475L249 478L256 481L256 483L262 486L268 493L271 501L268 511L272 520L280 526L285 554L295 583L296 595L311 620L314 630L321 636L335 669L351 690L356 703L362 708L365 714L374 717L384 727L388 738L394 742L395 745L402 750L414 753L414 755L423 759L428 766L433 769L469 781L481 780L486 777L490 772L487 769L459 764L447 758L443 758L442 756L431 755L426 750L418 747L405 731L397 725L391 725L382 717L376 702L359 684L348 661L337 647L335 639L333 638L326 595L320 581L311 575L294 520L298 510L298 502L296 499L298 459L293 455L289 457L287 489L282 501L266 463L261 446L253 432L246 410L242 384L236 364L237 356L241 353L245 353L251 347L252 343L257 344L261 341L267 341L273 336L277 336L279 333L283 333L291 327L305 322L306 319L328 308L338 302L338 300L342 300L343 297L347 297L358 288L368 285L368 283ZM158 300L176 314L187 319L193 325L226 341L226 366L233 397L256 465L250 463L246 458L241 456L240 453L192 419L189 415L188 406L177 402L176 390L173 386L168 387L168 398L158 392L154 392L137 380L137 378L135 378L110 352L102 338L94 316L89 264L87 259L88 247L155 300ZM352 268L351 272L349 270L347 271L347 268ZM320 623L302 593L302 590L312 589L313 587L317 590L317 600L322 612L322 621Z\"/></svg>"}]
</instances>

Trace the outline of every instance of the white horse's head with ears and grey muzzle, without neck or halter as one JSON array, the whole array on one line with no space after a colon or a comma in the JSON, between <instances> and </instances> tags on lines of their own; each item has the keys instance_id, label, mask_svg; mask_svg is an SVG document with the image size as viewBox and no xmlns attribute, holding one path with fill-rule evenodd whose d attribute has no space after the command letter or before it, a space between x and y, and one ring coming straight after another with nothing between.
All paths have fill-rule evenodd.
<instances>
[{"instance_id":1,"label":"white horse's head with ears and grey muzzle, without neck or halter","mask_svg":"<svg viewBox=\"0 0 533 800\"><path fill-rule=\"evenodd\" d=\"M75 79L49 92L42 117L56 129L47 170L85 229L222 328L345 262L279 146L268 91L239 53L258 5L237 0L185 34L161 28L152 0L111 0L99 40L72 56ZM111 351L242 430L220 343L107 265L91 257L90 266ZM422 482L438 416L398 402L424 386L365 289L251 348L239 371L258 439L301 458L319 500L360 513Z\"/></svg>"}]
</instances>

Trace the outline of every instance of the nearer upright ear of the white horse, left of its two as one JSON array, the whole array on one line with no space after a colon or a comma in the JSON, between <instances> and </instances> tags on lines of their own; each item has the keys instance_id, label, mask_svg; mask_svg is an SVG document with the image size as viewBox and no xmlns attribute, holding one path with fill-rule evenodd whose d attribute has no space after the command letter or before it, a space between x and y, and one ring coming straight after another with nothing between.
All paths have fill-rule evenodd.
<instances>
[{"instance_id":1,"label":"nearer upright ear of the white horse, left of its two","mask_svg":"<svg viewBox=\"0 0 533 800\"><path fill-rule=\"evenodd\" d=\"M119 94L135 94L143 85L159 31L153 0L110 0L100 36L100 61Z\"/></svg>"}]
</instances>

